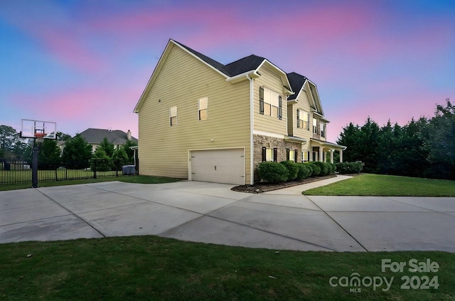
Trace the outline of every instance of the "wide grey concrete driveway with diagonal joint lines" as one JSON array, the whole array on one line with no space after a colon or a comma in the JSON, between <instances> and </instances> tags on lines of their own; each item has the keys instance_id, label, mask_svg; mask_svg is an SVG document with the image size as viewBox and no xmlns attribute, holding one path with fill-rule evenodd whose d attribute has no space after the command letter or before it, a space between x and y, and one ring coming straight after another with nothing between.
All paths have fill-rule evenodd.
<instances>
[{"instance_id":1,"label":"wide grey concrete driveway with diagonal joint lines","mask_svg":"<svg viewBox=\"0 0 455 301\"><path fill-rule=\"evenodd\" d=\"M196 181L0 191L0 243L157 235L251 248L455 252L455 198L244 194Z\"/></svg>"}]
</instances>

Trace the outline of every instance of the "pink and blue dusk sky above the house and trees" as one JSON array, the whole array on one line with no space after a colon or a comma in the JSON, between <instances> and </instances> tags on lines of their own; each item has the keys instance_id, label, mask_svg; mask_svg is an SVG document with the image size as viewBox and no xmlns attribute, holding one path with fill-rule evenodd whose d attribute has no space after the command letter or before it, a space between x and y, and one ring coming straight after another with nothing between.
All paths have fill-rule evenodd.
<instances>
[{"instance_id":1,"label":"pink and blue dusk sky above the house and trees","mask_svg":"<svg viewBox=\"0 0 455 301\"><path fill-rule=\"evenodd\" d=\"M134 106L169 38L220 63L255 54L305 75L332 142L349 122L405 125L455 101L452 0L0 0L0 125L138 137Z\"/></svg>"}]
</instances>

